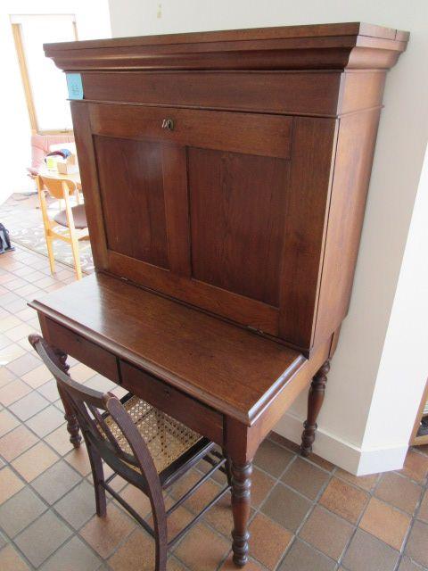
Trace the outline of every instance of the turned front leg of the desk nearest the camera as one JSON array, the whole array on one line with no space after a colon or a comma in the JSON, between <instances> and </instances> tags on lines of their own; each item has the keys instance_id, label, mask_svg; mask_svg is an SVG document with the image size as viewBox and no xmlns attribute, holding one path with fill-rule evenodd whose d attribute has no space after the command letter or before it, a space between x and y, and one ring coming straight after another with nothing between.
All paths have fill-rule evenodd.
<instances>
[{"instance_id":1,"label":"turned front leg of the desk nearest the camera","mask_svg":"<svg viewBox=\"0 0 428 571\"><path fill-rule=\"evenodd\" d=\"M234 563L243 567L248 561L248 519L251 508L251 473L252 464L243 466L232 462L232 512L234 516L234 531L232 532L232 550Z\"/></svg>"}]
</instances>

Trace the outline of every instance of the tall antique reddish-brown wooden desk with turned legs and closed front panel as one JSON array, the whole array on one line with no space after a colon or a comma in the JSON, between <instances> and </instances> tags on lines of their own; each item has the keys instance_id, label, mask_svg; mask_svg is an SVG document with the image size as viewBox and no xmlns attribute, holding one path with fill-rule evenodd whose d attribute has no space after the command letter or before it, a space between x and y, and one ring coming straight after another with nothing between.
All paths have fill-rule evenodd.
<instances>
[{"instance_id":1,"label":"tall antique reddish-brown wooden desk with turned legs and closed front panel","mask_svg":"<svg viewBox=\"0 0 428 571\"><path fill-rule=\"evenodd\" d=\"M96 274L31 305L64 369L68 353L223 447L240 566L251 460L311 379L303 454L314 441L407 38L350 23L45 46L83 84Z\"/></svg>"}]
</instances>

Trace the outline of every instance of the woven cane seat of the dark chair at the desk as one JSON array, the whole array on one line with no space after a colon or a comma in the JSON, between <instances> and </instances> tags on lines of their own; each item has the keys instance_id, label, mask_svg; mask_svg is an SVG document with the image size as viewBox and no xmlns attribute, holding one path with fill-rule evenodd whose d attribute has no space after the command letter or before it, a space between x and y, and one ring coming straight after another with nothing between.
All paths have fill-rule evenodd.
<instances>
[{"instance_id":1,"label":"woven cane seat of the dark chair at the desk","mask_svg":"<svg viewBox=\"0 0 428 571\"><path fill-rule=\"evenodd\" d=\"M184 456L194 444L202 441L201 434L135 395L129 395L128 400L122 399L121 402L147 444L158 474ZM110 414L104 414L103 418L120 449L131 455L128 440L114 418ZM128 466L140 472L138 467L132 464Z\"/></svg>"}]
</instances>

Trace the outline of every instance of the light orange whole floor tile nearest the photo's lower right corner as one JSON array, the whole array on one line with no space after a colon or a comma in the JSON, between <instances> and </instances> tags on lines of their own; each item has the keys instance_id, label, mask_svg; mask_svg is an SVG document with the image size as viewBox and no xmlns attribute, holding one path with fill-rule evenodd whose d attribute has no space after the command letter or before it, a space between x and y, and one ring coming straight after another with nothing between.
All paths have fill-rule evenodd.
<instances>
[{"instance_id":1,"label":"light orange whole floor tile nearest the photo's lower right corner","mask_svg":"<svg viewBox=\"0 0 428 571\"><path fill-rule=\"evenodd\" d=\"M410 525L410 517L383 501L372 498L359 526L395 550L400 550Z\"/></svg>"}]
</instances>

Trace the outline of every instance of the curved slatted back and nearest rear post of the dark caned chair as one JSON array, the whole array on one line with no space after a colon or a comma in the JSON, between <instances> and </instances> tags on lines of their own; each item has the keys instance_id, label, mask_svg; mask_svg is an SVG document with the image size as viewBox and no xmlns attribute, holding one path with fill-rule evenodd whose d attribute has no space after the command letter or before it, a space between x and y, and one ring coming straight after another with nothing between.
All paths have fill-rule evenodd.
<instances>
[{"instance_id":1,"label":"curved slatted back and nearest rear post of the dark caned chair","mask_svg":"<svg viewBox=\"0 0 428 571\"><path fill-rule=\"evenodd\" d=\"M33 346L40 359L50 370L56 379L60 390L67 395L70 407L76 413L80 429L85 438L86 445L94 446L99 456L109 463L108 455L113 452L120 463L134 465L139 468L144 477L144 488L152 507L153 524L156 537L156 571L165 571L167 564L167 516L165 503L162 495L161 481L155 468L152 455L144 442L144 438L138 432L132 418L123 407L119 399L111 393L101 393L94 389L80 385L69 375L64 373L55 363L55 353L52 347L45 342L40 335L29 335L29 343ZM111 434L111 431L99 410L104 410L119 426L120 431L128 441L132 455L122 451L119 443ZM91 415L93 418L91 418ZM116 470L118 474L119 470ZM129 466L128 466L129 468ZM95 476L95 475L94 475ZM121 476L126 476L121 474Z\"/></svg>"}]
</instances>

